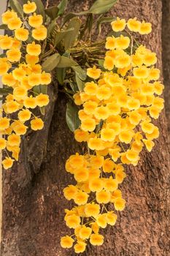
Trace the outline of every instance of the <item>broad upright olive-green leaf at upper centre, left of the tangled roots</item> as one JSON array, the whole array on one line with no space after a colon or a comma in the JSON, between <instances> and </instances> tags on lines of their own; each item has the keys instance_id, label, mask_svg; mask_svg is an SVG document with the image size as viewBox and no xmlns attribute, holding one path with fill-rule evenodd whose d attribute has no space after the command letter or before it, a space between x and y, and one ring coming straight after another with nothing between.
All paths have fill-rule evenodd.
<instances>
[{"instance_id":1,"label":"broad upright olive-green leaf at upper centre, left of the tangled roots","mask_svg":"<svg viewBox=\"0 0 170 256\"><path fill-rule=\"evenodd\" d=\"M63 45L65 50L69 49L72 45L74 45L74 42L76 41L77 36L79 34L80 26L81 26L80 18L75 17L75 18L72 18L72 20L70 20L69 25L67 26L67 29L74 29L74 31L70 31L64 37Z\"/></svg>"}]
</instances>

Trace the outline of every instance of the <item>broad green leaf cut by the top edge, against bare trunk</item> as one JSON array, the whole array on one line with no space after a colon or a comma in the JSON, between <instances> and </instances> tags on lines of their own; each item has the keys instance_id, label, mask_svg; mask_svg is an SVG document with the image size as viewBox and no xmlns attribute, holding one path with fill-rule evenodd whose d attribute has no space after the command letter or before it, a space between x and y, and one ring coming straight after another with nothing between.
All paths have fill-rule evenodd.
<instances>
[{"instance_id":1,"label":"broad green leaf cut by the top edge, against bare trunk","mask_svg":"<svg viewBox=\"0 0 170 256\"><path fill-rule=\"evenodd\" d=\"M116 2L117 0L97 0L92 7L90 7L89 12L93 14L108 12Z\"/></svg>"}]
</instances>

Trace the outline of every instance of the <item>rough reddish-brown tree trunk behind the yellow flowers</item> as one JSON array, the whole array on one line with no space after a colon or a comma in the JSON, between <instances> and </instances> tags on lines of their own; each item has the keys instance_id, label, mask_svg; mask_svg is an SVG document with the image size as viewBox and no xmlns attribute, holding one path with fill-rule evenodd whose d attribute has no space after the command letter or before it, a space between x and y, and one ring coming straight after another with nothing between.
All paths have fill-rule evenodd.
<instances>
[{"instance_id":1,"label":"rough reddish-brown tree trunk behind the yellow flowers","mask_svg":"<svg viewBox=\"0 0 170 256\"><path fill-rule=\"evenodd\" d=\"M58 1L50 1L56 4ZM85 10L93 1L69 1L69 12ZM109 15L123 18L137 17L152 23L152 34L142 37L144 44L158 54L161 68L161 0L119 1ZM109 28L109 26L106 26ZM104 31L107 29L104 29ZM55 102L55 101L54 101ZM1 256L73 256L72 249L61 249L60 237L69 232L63 216L70 204L63 197L63 188L72 183L66 173L66 159L76 151L72 132L66 126L66 97L59 94L52 114L47 135L47 154L39 172L35 164L24 164L26 147L20 162L12 170L3 173L3 222ZM50 123L50 117L48 119ZM169 148L165 114L156 122L160 137L152 153L143 151L139 165L127 167L127 178L121 189L127 200L120 212L115 227L107 227L103 246L89 246L82 255L161 256L170 255L169 248ZM41 145L39 135L34 145L34 154ZM27 144L29 146L30 144ZM41 149L41 148L40 148ZM25 152L24 152L25 151ZM38 155L38 156L39 156ZM37 160L37 161L36 161ZM25 166L24 166L25 165ZM28 172L28 173L27 173Z\"/></svg>"}]
</instances>

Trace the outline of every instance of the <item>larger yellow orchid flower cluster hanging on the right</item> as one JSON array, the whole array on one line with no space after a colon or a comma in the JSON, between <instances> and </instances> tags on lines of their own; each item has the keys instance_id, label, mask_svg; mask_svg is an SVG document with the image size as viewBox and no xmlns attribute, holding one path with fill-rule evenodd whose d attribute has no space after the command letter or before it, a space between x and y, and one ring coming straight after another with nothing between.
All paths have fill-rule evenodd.
<instances>
[{"instance_id":1,"label":"larger yellow orchid flower cluster hanging on the right","mask_svg":"<svg viewBox=\"0 0 170 256\"><path fill-rule=\"evenodd\" d=\"M104 71L88 68L91 80L82 92L74 94L75 104L82 105L81 125L74 137L87 143L88 150L66 161L66 171L74 175L77 184L63 193L76 206L66 209L64 219L74 234L62 237L61 246L71 248L75 242L76 253L85 251L88 240L94 246L103 244L100 230L115 225L115 211L125 208L119 189L125 178L123 165L136 166L142 148L151 151L159 136L158 127L152 124L163 109L160 70L154 66L157 57L144 45L135 47L133 34L149 34L151 24L117 18L112 30L125 30L129 36L107 37ZM109 211L110 204L115 211Z\"/></svg>"}]
</instances>

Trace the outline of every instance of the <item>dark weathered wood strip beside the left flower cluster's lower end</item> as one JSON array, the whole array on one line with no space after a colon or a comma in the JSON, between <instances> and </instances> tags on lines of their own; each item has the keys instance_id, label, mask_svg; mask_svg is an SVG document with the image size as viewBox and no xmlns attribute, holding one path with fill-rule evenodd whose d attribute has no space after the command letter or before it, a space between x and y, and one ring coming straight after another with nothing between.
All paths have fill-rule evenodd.
<instances>
[{"instance_id":1,"label":"dark weathered wood strip beside the left flower cluster's lower end","mask_svg":"<svg viewBox=\"0 0 170 256\"><path fill-rule=\"evenodd\" d=\"M58 89L56 90L55 87L56 86L53 84L48 86L50 103L45 108L45 116L42 116L45 124L44 128L37 132L30 130L25 138L23 138L20 159L18 163L15 164L15 166L18 165L18 170L20 170L20 175L16 181L21 187L26 186L31 181L34 173L39 172L45 155L47 154L47 138L58 92Z\"/></svg>"}]
</instances>

